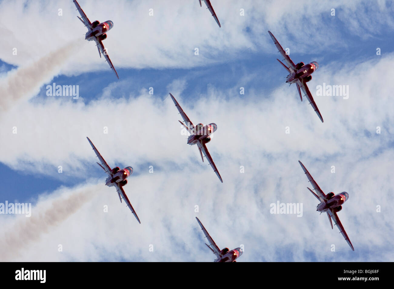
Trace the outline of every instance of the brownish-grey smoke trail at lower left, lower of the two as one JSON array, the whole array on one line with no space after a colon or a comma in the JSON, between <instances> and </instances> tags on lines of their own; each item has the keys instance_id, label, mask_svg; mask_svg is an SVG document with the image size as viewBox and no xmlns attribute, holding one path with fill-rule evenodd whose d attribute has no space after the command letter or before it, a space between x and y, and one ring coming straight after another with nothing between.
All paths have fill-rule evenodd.
<instances>
[{"instance_id":1,"label":"brownish-grey smoke trail at lower left, lower of the two","mask_svg":"<svg viewBox=\"0 0 394 289\"><path fill-rule=\"evenodd\" d=\"M31 217L20 217L15 224L0 235L0 261L14 261L19 250L39 240L51 227L63 222L89 201L102 184L77 188L71 194L61 194L48 204L32 208ZM45 206L46 208L42 208Z\"/></svg>"}]
</instances>

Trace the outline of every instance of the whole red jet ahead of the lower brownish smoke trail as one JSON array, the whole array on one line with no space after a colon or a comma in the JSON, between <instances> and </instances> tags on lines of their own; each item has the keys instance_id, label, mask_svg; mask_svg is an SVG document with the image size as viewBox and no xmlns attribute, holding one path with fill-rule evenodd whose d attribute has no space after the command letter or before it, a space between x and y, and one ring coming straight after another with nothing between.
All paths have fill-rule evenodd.
<instances>
[{"instance_id":1,"label":"whole red jet ahead of the lower brownish smoke trail","mask_svg":"<svg viewBox=\"0 0 394 289\"><path fill-rule=\"evenodd\" d=\"M92 146L93 150L95 151L97 157L100 160L100 163L97 163L104 171L107 173L108 178L105 181L106 186L109 187L115 187L116 191L119 195L119 200L122 202L122 199L126 202L127 206L130 208L131 212L134 214L136 217L138 223L141 224L139 221L139 218L136 214L136 211L134 211L133 206L130 204L130 201L128 200L128 197L126 196L125 191L123 190L123 186L127 184L127 177L130 177L133 173L133 168L128 166L124 169L119 169L119 167L115 167L111 169L110 166L106 163L104 158L100 155L99 151L97 151L96 147L93 145L93 143L90 141L88 137L86 137L87 140L89 141L89 144Z\"/></svg>"}]
</instances>

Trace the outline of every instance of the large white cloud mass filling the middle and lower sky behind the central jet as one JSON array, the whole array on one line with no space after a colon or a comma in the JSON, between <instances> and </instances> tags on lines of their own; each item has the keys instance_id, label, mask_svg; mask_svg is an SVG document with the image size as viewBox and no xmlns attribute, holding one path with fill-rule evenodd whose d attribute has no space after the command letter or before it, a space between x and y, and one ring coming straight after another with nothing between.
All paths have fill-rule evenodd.
<instances>
[{"instance_id":1,"label":"large white cloud mass filling the middle and lower sky behind the central jet","mask_svg":"<svg viewBox=\"0 0 394 289\"><path fill-rule=\"evenodd\" d=\"M89 168L97 166L85 138L89 136L110 166L121 162L134 167L136 175L130 177L125 190L141 219L139 225L115 191L104 186L102 174L97 176L102 187L94 187L95 197L56 228L48 228L34 247L13 257L210 261L194 219L197 215L219 247L245 245L242 261L275 261L281 258L277 254L281 250L291 250L294 261L364 261L365 251L374 252L370 261L393 260L392 250L387 249L394 217L387 208L393 187L390 172L394 168L387 162L393 157L389 147L393 116L386 110L393 87L381 74L383 67L390 70L392 64L393 56L388 55L342 70L335 66L319 70L309 83L313 94L314 86L323 80L347 84L351 91L349 99L315 97L324 123L308 103L299 101L296 89L286 85L272 92L271 98L256 92L241 99L238 90L214 87L194 102L174 95L193 122L218 125L208 149L223 184L206 162L201 164L198 150L186 144L186 136L180 135L177 109L171 99L162 101L165 95L145 93L126 99L106 95L86 105L54 98L9 110L0 118L1 133L8 135L0 147L8 152L1 156L2 162L20 168L29 160L32 169L44 174L48 167L56 170L63 165L65 176L82 173L89 178ZM366 76L368 82L359 87ZM181 79L170 86L182 91L184 85ZM370 93L377 88L378 98ZM116 89L117 85L112 86L114 93ZM18 127L16 135L11 134L13 125ZM378 125L381 134L375 133ZM103 134L104 126L108 134ZM290 134L284 133L286 126ZM315 211L316 200L306 190L309 183L297 160L326 193L349 192L349 201L338 215L355 253L338 252L349 250L348 245L336 228L329 228L327 217ZM150 164L153 174L148 172ZM332 165L335 174L330 173ZM245 166L244 174L240 166ZM75 190L65 189L64 195L71 191ZM302 202L303 217L269 214L269 204L278 200ZM110 212L102 212L104 204L109 204ZM377 205L382 206L381 213L376 212ZM57 252L58 243L65 244L63 254ZM330 252L331 244L336 245L336 253ZM100 252L106 252L105 256Z\"/></svg>"}]
</instances>

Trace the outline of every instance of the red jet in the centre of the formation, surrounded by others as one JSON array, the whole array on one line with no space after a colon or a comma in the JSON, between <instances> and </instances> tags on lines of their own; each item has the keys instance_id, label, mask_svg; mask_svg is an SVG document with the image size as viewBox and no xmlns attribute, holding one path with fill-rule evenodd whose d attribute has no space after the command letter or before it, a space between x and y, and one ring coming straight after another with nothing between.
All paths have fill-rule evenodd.
<instances>
[{"instance_id":1,"label":"red jet in the centre of the formation, surrounded by others","mask_svg":"<svg viewBox=\"0 0 394 289\"><path fill-rule=\"evenodd\" d=\"M184 111L182 110L182 108L180 107L180 105L178 104L178 102L175 100L174 96L171 93L170 93L170 96L171 96L172 100L174 101L175 106L177 107L177 109L178 109L180 115L182 116L184 122L186 123L186 125L180 120L179 120L179 122L190 133L190 136L188 138L188 144L190 144L190 145L197 144L197 147L200 151L200 155L201 155L201 158L203 159L203 162L204 162L204 158L203 158L203 153L204 153L204 156L206 158L208 158L208 162L211 165L212 169L214 169L217 177L219 178L219 180L221 182L223 182L223 180L221 179L221 176L219 174L219 171L217 171L215 163L212 160L212 156L209 154L208 149L206 148L206 143L211 141L210 135L216 131L217 125L215 123L210 123L210 124L204 126L202 123L199 123L198 125L194 126L193 123L191 123L190 119L188 118L186 113L184 113Z\"/></svg>"}]
</instances>

